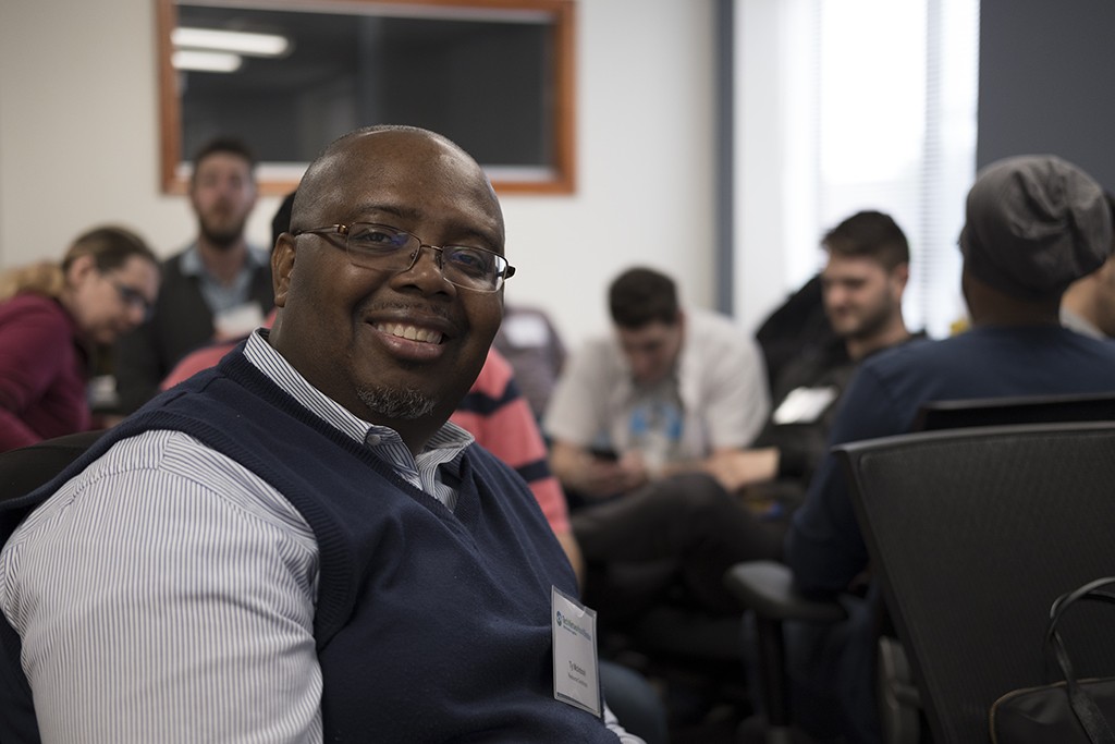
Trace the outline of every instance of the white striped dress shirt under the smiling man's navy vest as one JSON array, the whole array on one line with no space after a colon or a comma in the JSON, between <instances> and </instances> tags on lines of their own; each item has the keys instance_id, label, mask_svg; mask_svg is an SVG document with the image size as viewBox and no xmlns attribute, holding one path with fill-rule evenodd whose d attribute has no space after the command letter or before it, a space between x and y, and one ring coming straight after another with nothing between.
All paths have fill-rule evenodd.
<instances>
[{"instance_id":1,"label":"white striped dress shirt under the smiling man's navy vest","mask_svg":"<svg viewBox=\"0 0 1115 744\"><path fill-rule=\"evenodd\" d=\"M415 458L258 332L245 355L453 509L442 472L472 442L464 429L446 424ZM321 742L318 569L309 525L240 464L178 432L116 443L0 552L0 610L22 640L42 741Z\"/></svg>"}]
</instances>

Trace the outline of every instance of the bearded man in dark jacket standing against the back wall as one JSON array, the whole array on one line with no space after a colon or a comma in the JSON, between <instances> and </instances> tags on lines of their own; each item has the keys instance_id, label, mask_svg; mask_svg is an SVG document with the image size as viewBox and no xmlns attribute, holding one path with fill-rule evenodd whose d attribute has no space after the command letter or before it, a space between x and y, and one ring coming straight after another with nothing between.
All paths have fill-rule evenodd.
<instances>
[{"instance_id":1,"label":"bearded man in dark jacket standing against the back wall","mask_svg":"<svg viewBox=\"0 0 1115 744\"><path fill-rule=\"evenodd\" d=\"M119 410L128 414L188 351L242 338L274 305L270 251L249 245L244 225L255 206L255 158L239 139L206 143L194 157L190 204L197 238L163 263L163 290L151 318L117 344Z\"/></svg>"}]
</instances>

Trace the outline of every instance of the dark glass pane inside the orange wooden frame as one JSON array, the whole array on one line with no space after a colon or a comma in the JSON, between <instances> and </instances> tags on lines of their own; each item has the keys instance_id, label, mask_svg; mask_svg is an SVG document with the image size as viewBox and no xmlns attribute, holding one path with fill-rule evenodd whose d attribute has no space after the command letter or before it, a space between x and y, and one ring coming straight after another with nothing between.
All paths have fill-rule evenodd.
<instances>
[{"instance_id":1,"label":"dark glass pane inside the orange wooden frame","mask_svg":"<svg viewBox=\"0 0 1115 744\"><path fill-rule=\"evenodd\" d=\"M233 74L182 71L182 160L215 135L262 162L306 163L368 124L440 132L486 166L554 162L550 27L177 6L182 27L281 33L282 58Z\"/></svg>"}]
</instances>

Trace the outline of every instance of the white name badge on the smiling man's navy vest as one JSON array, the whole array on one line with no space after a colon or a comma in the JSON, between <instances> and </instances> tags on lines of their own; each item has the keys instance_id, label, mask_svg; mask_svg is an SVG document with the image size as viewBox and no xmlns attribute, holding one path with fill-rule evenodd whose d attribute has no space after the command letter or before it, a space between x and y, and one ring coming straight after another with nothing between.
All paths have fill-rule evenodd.
<instances>
[{"instance_id":1,"label":"white name badge on the smiling man's navy vest","mask_svg":"<svg viewBox=\"0 0 1115 744\"><path fill-rule=\"evenodd\" d=\"M597 661L597 612L568 597L558 587L550 591L553 612L554 698L603 715L600 667Z\"/></svg>"}]
</instances>

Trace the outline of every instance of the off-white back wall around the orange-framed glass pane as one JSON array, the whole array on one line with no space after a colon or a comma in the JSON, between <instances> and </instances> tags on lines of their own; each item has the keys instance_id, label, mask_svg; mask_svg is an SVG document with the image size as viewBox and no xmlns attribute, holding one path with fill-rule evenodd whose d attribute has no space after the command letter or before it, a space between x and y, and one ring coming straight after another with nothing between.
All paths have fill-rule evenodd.
<instances>
[{"instance_id":1,"label":"off-white back wall around the orange-framed glass pane","mask_svg":"<svg viewBox=\"0 0 1115 744\"><path fill-rule=\"evenodd\" d=\"M714 1L578 2L578 190L507 196L507 300L549 309L566 342L608 328L633 263L714 305ZM153 0L6 0L0 11L0 267L132 225L166 255L193 234L158 186ZM277 123L281 125L281 123ZM278 199L250 223L265 243Z\"/></svg>"}]
</instances>

